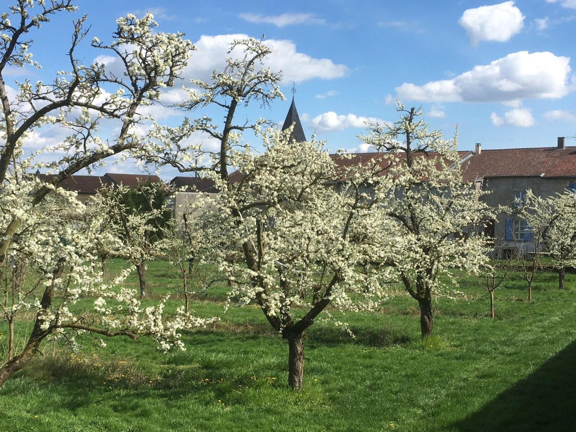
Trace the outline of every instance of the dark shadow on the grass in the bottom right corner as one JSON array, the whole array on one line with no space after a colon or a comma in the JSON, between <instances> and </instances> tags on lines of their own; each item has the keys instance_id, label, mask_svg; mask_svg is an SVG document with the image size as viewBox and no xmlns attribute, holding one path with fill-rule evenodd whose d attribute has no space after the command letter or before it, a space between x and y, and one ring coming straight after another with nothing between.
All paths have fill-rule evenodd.
<instances>
[{"instance_id":1,"label":"dark shadow on the grass in the bottom right corner","mask_svg":"<svg viewBox=\"0 0 576 432\"><path fill-rule=\"evenodd\" d=\"M460 432L576 430L575 358L576 341L452 426Z\"/></svg>"}]
</instances>

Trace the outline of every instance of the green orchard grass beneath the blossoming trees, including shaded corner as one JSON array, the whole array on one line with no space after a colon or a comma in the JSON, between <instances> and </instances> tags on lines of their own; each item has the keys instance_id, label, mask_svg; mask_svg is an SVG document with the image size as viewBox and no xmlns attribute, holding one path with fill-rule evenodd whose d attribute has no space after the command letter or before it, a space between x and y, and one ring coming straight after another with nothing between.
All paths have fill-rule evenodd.
<instances>
[{"instance_id":1,"label":"green orchard grass beneath the blossoming trees, including shaded corner","mask_svg":"<svg viewBox=\"0 0 576 432\"><path fill-rule=\"evenodd\" d=\"M427 340L418 305L403 293L380 313L346 314L355 339L314 324L301 392L286 384L286 341L253 307L185 334L183 353L162 354L144 339L100 348L84 338L77 355L47 343L0 389L0 430L573 430L576 275L558 291L556 274L539 274L532 304L515 276L496 291L491 320L487 294L462 275L467 300L435 300ZM176 283L166 263L149 264L152 293ZM193 307L221 314L224 296L219 287Z\"/></svg>"}]
</instances>

